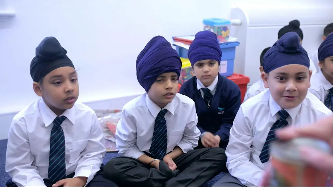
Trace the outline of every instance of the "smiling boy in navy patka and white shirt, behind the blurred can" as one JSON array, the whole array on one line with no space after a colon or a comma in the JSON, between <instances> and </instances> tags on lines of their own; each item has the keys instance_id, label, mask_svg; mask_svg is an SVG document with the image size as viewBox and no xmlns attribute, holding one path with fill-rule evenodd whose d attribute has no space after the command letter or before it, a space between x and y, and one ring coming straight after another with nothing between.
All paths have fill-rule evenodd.
<instances>
[{"instance_id":1,"label":"smiling boy in navy patka and white shirt, behind the blurred can","mask_svg":"<svg viewBox=\"0 0 333 187\"><path fill-rule=\"evenodd\" d=\"M229 173L213 186L259 186L270 163L275 130L302 126L332 115L308 92L309 57L295 32L283 35L264 55L261 78L267 90L240 105L225 150Z\"/></svg>"}]
</instances>

